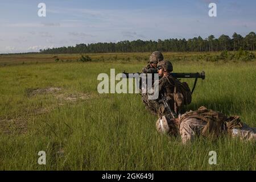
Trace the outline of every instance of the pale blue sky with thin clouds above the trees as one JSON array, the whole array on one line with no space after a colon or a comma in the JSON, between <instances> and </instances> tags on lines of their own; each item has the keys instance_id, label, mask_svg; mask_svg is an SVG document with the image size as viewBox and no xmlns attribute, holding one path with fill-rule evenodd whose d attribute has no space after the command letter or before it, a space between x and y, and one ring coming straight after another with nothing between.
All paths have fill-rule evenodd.
<instances>
[{"instance_id":1,"label":"pale blue sky with thin clouds above the trees","mask_svg":"<svg viewBox=\"0 0 256 182\"><path fill-rule=\"evenodd\" d=\"M209 3L217 16L210 17ZM39 3L46 17L39 17ZM0 53L256 31L254 0L1 0Z\"/></svg>"}]
</instances>

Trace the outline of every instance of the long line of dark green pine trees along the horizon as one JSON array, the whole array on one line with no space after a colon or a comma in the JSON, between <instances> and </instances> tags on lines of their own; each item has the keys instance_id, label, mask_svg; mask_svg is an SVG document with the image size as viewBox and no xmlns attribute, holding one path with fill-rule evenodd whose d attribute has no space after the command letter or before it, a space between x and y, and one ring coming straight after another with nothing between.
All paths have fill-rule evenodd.
<instances>
[{"instance_id":1,"label":"long line of dark green pine trees along the horizon","mask_svg":"<svg viewBox=\"0 0 256 182\"><path fill-rule=\"evenodd\" d=\"M40 49L41 53L108 53L108 52L185 52L185 51L237 51L243 49L254 51L256 47L256 34L250 32L244 38L236 32L232 38L228 35L221 35L215 38L214 35L208 38L201 36L192 39L166 39L152 40L125 40L117 43L92 43L76 44L76 46Z\"/></svg>"}]
</instances>

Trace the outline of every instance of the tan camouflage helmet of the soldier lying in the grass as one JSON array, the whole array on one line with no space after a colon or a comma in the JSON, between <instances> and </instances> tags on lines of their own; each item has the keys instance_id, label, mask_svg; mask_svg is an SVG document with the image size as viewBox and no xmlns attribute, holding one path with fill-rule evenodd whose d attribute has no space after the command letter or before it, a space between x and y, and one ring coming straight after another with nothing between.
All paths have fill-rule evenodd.
<instances>
[{"instance_id":1,"label":"tan camouflage helmet of the soldier lying in the grass","mask_svg":"<svg viewBox=\"0 0 256 182\"><path fill-rule=\"evenodd\" d=\"M170 119L168 115L163 115L162 119L159 118L155 123L158 133L177 135L178 129L174 123L174 119Z\"/></svg>"}]
</instances>

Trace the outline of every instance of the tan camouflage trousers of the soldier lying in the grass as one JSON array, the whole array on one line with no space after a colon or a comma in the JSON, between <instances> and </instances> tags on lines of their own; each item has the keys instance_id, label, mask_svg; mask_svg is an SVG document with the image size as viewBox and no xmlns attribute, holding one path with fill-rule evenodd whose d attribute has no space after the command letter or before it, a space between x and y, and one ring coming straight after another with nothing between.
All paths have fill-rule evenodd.
<instances>
[{"instance_id":1,"label":"tan camouflage trousers of the soldier lying in the grass","mask_svg":"<svg viewBox=\"0 0 256 182\"><path fill-rule=\"evenodd\" d=\"M238 137L242 140L256 140L256 127L249 127L243 123L241 128L232 129L232 137Z\"/></svg>"}]
</instances>

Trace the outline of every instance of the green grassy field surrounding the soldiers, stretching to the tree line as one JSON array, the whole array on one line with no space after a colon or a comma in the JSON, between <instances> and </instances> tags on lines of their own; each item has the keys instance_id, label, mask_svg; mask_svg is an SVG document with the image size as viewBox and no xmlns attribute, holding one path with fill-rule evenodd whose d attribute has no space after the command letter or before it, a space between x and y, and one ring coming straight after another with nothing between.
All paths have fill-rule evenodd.
<instances>
[{"instance_id":1,"label":"green grassy field surrounding the soldiers, stretching to the tree line","mask_svg":"<svg viewBox=\"0 0 256 182\"><path fill-rule=\"evenodd\" d=\"M255 170L255 142L197 138L183 146L156 132L139 94L98 94L99 73L140 72L149 55L90 54L86 63L75 61L80 55L0 55L0 169ZM186 109L204 105L256 127L256 60L201 55L164 53L174 72L206 73ZM46 165L38 164L39 151ZM209 151L217 152L216 165Z\"/></svg>"}]
</instances>

